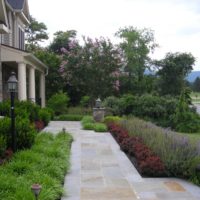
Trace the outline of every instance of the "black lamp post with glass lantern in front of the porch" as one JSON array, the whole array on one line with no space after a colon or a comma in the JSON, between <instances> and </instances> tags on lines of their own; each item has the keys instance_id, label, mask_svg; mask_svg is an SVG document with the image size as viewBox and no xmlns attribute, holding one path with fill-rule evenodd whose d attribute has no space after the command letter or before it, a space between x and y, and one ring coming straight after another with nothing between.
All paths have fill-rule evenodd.
<instances>
[{"instance_id":1,"label":"black lamp post with glass lantern in front of the porch","mask_svg":"<svg viewBox=\"0 0 200 200\"><path fill-rule=\"evenodd\" d=\"M11 138L12 138L12 150L13 152L16 151L16 132L15 132L15 105L14 105L14 99L15 99L15 92L17 91L17 79L15 72L11 73L11 76L9 77L7 83L8 83L8 90L10 92L10 100L11 100L11 106L10 106L10 115L11 115Z\"/></svg>"}]
</instances>

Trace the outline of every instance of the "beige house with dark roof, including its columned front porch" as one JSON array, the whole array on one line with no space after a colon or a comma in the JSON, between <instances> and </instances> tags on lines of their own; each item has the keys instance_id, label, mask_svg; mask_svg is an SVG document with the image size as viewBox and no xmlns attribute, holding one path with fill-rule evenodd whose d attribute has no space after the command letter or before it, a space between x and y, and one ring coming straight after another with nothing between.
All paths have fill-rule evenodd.
<instances>
[{"instance_id":1,"label":"beige house with dark roof, including its columned front porch","mask_svg":"<svg viewBox=\"0 0 200 200\"><path fill-rule=\"evenodd\" d=\"M9 97L7 80L12 71L18 79L18 99L36 102L39 77L41 106L45 106L45 76L48 68L25 50L25 27L30 23L28 0L0 0L0 101Z\"/></svg>"}]
</instances>

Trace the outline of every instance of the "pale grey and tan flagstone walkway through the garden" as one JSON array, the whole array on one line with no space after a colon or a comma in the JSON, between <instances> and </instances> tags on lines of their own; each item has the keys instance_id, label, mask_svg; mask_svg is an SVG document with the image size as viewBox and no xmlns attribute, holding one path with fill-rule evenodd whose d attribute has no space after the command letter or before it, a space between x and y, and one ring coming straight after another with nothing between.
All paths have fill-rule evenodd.
<instances>
[{"instance_id":1,"label":"pale grey and tan flagstone walkway through the garden","mask_svg":"<svg viewBox=\"0 0 200 200\"><path fill-rule=\"evenodd\" d=\"M176 178L142 178L110 133L82 130L80 122L53 121L74 138L62 200L198 200L200 187Z\"/></svg>"}]
</instances>

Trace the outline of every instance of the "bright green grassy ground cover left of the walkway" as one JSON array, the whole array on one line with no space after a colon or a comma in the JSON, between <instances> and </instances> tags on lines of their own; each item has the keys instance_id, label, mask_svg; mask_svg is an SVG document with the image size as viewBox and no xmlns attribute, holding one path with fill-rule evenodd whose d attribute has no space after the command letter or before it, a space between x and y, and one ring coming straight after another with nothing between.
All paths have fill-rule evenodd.
<instances>
[{"instance_id":1,"label":"bright green grassy ground cover left of the walkway","mask_svg":"<svg viewBox=\"0 0 200 200\"><path fill-rule=\"evenodd\" d=\"M69 169L72 137L66 133L37 135L29 150L17 152L0 166L1 200L34 200L31 185L42 185L41 200L60 199L63 181Z\"/></svg>"}]
</instances>

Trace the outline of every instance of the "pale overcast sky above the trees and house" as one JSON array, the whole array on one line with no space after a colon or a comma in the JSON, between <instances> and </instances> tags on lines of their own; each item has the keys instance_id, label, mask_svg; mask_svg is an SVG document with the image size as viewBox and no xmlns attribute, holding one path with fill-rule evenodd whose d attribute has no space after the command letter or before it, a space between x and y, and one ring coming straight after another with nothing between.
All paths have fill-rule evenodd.
<instances>
[{"instance_id":1,"label":"pale overcast sky above the trees and house","mask_svg":"<svg viewBox=\"0 0 200 200\"><path fill-rule=\"evenodd\" d=\"M192 53L194 70L200 70L200 0L29 0L29 9L46 24L49 43L60 30L117 43L114 34L119 28L149 28L159 45L153 59L167 52Z\"/></svg>"}]
</instances>

